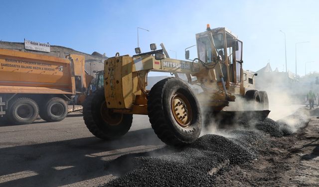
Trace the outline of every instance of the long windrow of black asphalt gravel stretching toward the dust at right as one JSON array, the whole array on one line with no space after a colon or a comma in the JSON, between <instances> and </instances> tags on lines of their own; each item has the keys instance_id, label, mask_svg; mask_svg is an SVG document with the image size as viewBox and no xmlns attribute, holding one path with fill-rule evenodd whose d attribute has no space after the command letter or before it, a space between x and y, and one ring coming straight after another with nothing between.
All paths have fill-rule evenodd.
<instances>
[{"instance_id":1,"label":"long windrow of black asphalt gravel stretching toward the dust at right","mask_svg":"<svg viewBox=\"0 0 319 187\"><path fill-rule=\"evenodd\" d=\"M179 150L164 147L149 153L124 155L108 163L106 168L116 171L125 167L126 170L118 171L119 177L103 187L211 187L215 175L233 165L257 159L257 147L271 143L270 136L291 135L307 120L301 113L278 121L266 118L252 124L253 129L244 125L236 130L221 130L223 136L207 134Z\"/></svg>"}]
</instances>

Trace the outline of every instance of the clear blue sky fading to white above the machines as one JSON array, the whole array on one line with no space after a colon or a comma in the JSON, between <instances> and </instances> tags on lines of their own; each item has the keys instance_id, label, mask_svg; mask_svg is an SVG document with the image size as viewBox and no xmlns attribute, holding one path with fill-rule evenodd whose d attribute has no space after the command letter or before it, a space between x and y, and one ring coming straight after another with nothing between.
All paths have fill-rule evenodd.
<instances>
[{"instance_id":1,"label":"clear blue sky fading to white above the machines","mask_svg":"<svg viewBox=\"0 0 319 187\"><path fill-rule=\"evenodd\" d=\"M140 47L164 43L170 57L184 59L195 33L227 27L243 41L244 69L257 71L270 62L284 70L319 72L319 0L1 0L0 40L23 38L108 57L134 55L137 27ZM169 51L173 50L173 51ZM191 57L196 57L195 48Z\"/></svg>"}]
</instances>

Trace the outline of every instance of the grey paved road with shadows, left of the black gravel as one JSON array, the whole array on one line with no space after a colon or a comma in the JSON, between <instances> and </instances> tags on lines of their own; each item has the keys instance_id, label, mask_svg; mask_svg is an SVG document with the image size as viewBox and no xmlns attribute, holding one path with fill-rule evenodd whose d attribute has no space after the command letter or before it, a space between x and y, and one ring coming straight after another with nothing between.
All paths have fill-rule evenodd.
<instances>
[{"instance_id":1,"label":"grey paved road with shadows, left of the black gravel","mask_svg":"<svg viewBox=\"0 0 319 187\"><path fill-rule=\"evenodd\" d=\"M0 186L97 186L114 179L108 162L161 148L147 116L134 115L124 137L102 141L74 113L62 122L0 125Z\"/></svg>"}]
</instances>

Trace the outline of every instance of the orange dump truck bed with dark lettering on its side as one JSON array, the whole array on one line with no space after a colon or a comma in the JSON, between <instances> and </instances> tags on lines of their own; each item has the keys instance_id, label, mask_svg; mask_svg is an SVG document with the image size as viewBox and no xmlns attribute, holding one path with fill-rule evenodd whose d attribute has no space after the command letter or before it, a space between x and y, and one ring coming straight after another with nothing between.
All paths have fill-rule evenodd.
<instances>
[{"instance_id":1,"label":"orange dump truck bed with dark lettering on its side","mask_svg":"<svg viewBox=\"0 0 319 187\"><path fill-rule=\"evenodd\" d=\"M0 93L75 94L67 58L0 49Z\"/></svg>"}]
</instances>

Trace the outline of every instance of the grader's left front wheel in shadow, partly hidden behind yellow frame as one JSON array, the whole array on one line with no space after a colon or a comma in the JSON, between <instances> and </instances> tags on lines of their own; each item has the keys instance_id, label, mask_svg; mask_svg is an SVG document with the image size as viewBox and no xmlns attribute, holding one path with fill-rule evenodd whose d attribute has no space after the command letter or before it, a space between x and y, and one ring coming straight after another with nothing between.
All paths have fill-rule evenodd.
<instances>
[{"instance_id":1,"label":"grader's left front wheel in shadow, partly hidden behind yellow frame","mask_svg":"<svg viewBox=\"0 0 319 187\"><path fill-rule=\"evenodd\" d=\"M130 130L133 114L113 113L106 106L104 90L100 89L86 98L83 104L83 119L94 136L112 140Z\"/></svg>"}]
</instances>

